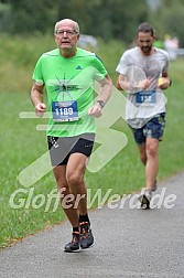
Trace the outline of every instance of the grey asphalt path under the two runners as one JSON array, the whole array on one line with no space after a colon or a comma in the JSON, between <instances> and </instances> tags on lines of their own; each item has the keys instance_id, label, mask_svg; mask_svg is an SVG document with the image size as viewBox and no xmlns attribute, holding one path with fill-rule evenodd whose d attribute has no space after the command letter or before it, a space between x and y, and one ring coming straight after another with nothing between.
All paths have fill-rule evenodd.
<instances>
[{"instance_id":1,"label":"grey asphalt path under the two runners","mask_svg":"<svg viewBox=\"0 0 184 278\"><path fill-rule=\"evenodd\" d=\"M184 278L184 173L154 194L151 210L133 209L132 195L90 211L95 245L80 253L63 252L68 222L1 249L0 277Z\"/></svg>"}]
</instances>

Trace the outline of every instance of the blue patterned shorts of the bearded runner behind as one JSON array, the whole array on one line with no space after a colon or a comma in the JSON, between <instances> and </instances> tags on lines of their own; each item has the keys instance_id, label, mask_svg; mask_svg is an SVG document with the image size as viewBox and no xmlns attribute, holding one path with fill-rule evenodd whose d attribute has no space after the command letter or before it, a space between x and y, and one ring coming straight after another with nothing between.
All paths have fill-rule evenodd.
<instances>
[{"instance_id":1,"label":"blue patterned shorts of the bearded runner behind","mask_svg":"<svg viewBox=\"0 0 184 278\"><path fill-rule=\"evenodd\" d=\"M160 114L158 117L150 119L142 128L131 130L137 143L141 145L145 142L147 138L155 138L162 140L163 131L165 127L165 113Z\"/></svg>"}]
</instances>

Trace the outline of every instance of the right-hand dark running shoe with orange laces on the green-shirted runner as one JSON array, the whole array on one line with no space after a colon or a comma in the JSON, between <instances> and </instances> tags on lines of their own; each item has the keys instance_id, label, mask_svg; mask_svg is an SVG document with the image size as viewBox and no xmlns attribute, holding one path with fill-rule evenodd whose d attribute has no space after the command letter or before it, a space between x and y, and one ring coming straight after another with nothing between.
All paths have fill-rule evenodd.
<instances>
[{"instance_id":1,"label":"right-hand dark running shoe with orange laces on the green-shirted runner","mask_svg":"<svg viewBox=\"0 0 184 278\"><path fill-rule=\"evenodd\" d=\"M88 222L79 223L80 227L80 247L83 249L89 248L94 244L94 236Z\"/></svg>"}]
</instances>

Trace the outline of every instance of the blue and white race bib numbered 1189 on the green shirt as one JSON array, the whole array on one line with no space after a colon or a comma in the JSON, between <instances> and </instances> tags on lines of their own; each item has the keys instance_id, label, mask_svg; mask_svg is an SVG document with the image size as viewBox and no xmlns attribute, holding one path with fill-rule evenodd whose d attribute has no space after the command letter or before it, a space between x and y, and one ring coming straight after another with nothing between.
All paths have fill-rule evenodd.
<instances>
[{"instance_id":1,"label":"blue and white race bib numbered 1189 on the green shirt","mask_svg":"<svg viewBox=\"0 0 184 278\"><path fill-rule=\"evenodd\" d=\"M78 120L77 100L52 101L52 114L54 121Z\"/></svg>"}]
</instances>

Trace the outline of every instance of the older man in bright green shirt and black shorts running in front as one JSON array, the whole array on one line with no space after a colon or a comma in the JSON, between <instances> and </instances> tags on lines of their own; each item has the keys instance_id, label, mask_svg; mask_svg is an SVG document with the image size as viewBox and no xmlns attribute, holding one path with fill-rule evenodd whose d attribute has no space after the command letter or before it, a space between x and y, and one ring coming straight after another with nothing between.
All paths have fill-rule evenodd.
<instances>
[{"instance_id":1,"label":"older man in bright green shirt and black shorts running in front","mask_svg":"<svg viewBox=\"0 0 184 278\"><path fill-rule=\"evenodd\" d=\"M61 20L54 33L57 49L39 58L31 99L37 116L50 113L46 133L51 162L62 206L73 226L72 242L64 250L77 252L94 244L84 173L95 141L95 118L101 116L112 85L102 62L77 47L77 22ZM100 93L94 104L95 82L100 84ZM44 88L47 107L43 103Z\"/></svg>"}]
</instances>

